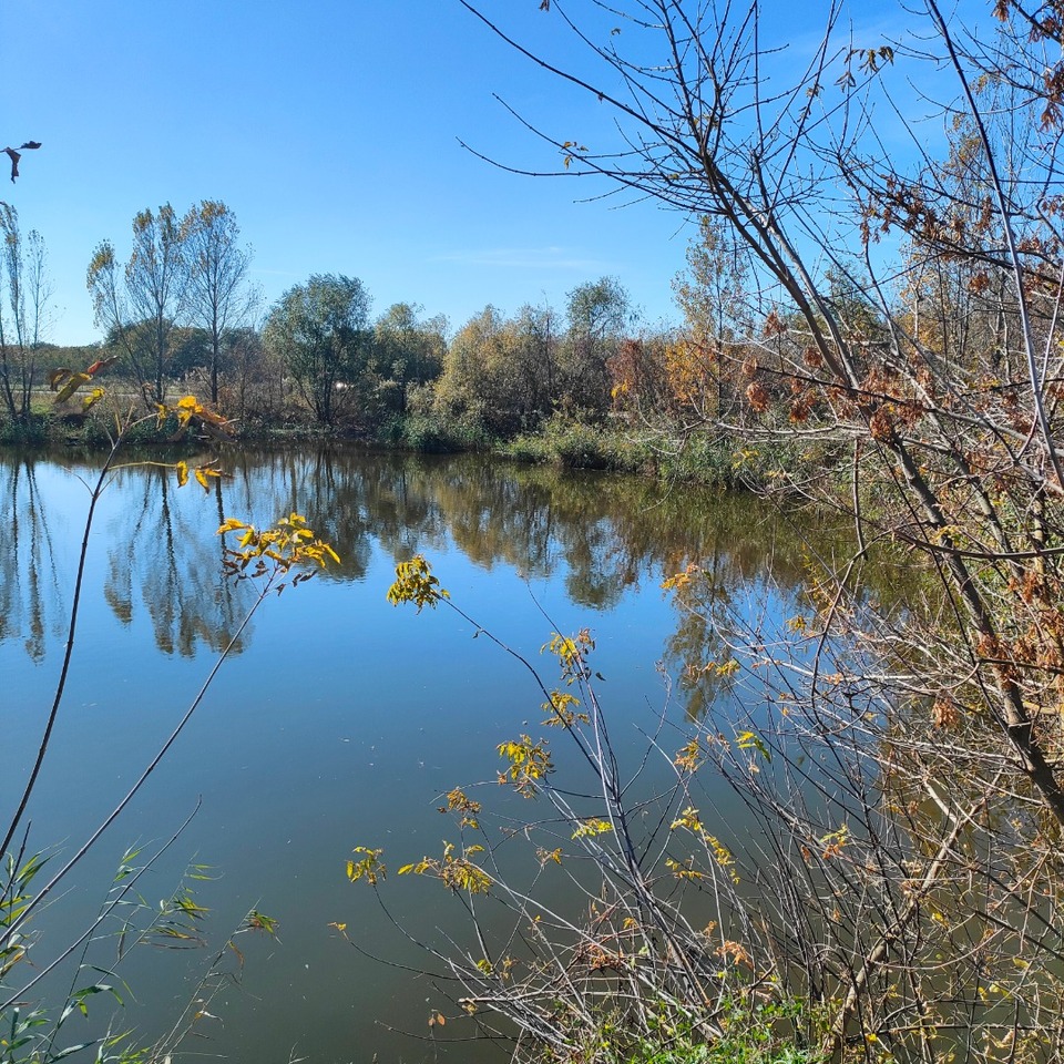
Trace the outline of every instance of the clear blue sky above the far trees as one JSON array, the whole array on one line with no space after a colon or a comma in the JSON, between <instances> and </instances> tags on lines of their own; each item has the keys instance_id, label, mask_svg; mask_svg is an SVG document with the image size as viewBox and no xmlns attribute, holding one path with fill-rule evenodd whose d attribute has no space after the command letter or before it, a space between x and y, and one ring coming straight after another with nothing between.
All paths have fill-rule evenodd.
<instances>
[{"instance_id":1,"label":"clear blue sky above the far trees","mask_svg":"<svg viewBox=\"0 0 1064 1064\"><path fill-rule=\"evenodd\" d=\"M773 6L785 40L806 29L788 19L822 19L819 2ZM539 0L483 7L533 45L579 54ZM267 301L311 273L342 273L375 313L417 303L457 328L488 303L561 307L607 274L647 320L675 317L683 218L579 202L606 186L514 176L460 146L557 166L495 92L592 146L608 114L454 0L3 0L0 34L0 136L43 143L0 197L44 237L55 342L99 338L84 273L101 239L124 258L137 211L204 198L236 213Z\"/></svg>"}]
</instances>

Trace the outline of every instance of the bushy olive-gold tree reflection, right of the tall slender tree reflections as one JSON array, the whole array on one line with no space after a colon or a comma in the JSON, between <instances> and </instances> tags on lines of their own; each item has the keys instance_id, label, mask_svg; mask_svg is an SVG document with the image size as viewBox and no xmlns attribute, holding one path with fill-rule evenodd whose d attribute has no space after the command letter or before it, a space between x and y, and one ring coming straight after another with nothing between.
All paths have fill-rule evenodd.
<instances>
[{"instance_id":1,"label":"bushy olive-gold tree reflection, right of the tall slender tree reflections","mask_svg":"<svg viewBox=\"0 0 1064 1064\"><path fill-rule=\"evenodd\" d=\"M340 552L337 579L365 575L375 541L397 560L450 541L485 569L564 571L573 601L594 608L615 604L647 572L710 556L737 581L764 572L769 556L785 586L804 574L798 532L745 497L473 456L243 452L231 468L237 508L301 508Z\"/></svg>"}]
</instances>

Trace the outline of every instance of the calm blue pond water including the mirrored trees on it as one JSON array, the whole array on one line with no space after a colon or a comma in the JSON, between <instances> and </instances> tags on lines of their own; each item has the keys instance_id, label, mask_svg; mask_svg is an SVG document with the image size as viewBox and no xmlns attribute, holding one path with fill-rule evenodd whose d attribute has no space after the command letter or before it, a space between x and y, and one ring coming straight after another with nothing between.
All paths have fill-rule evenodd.
<instances>
[{"instance_id":1,"label":"calm blue pond water including the mirrored trees on it","mask_svg":"<svg viewBox=\"0 0 1064 1064\"><path fill-rule=\"evenodd\" d=\"M0 552L4 817L55 687L85 481L98 464L0 458L9 514ZM456 785L487 781L478 792L485 802L520 802L494 786L495 747L541 733L542 696L519 663L474 640L477 628L453 612L390 606L396 563L426 554L453 601L549 683L539 651L552 631L590 627L613 736L622 758L637 764L663 714L678 734L707 697L676 683L667 696L688 658L713 655L705 625L663 594L663 577L704 564L722 602L791 616L800 539L750 499L478 458L241 452L226 468L231 478L205 493L139 466L103 495L73 666L30 807L31 851L69 853L106 815L250 605L254 589L221 575L223 518L265 525L297 511L341 564L255 615L160 769L41 914L37 960L91 919L126 848L153 852L195 811L139 881L144 900L171 894L186 866L211 866L194 886L211 909L212 949L252 908L278 921L278 938L241 938L241 985L215 999L217 1019L197 1024L209 1037L186 1048L263 1064L368 1062L375 1053L381 1064L500 1060L491 1046L444 1044L471 1031L446 984L408 970L440 965L390 923L372 891L347 881L345 864L356 846L383 847L392 870L438 856L454 831L437 807ZM715 833L741 835L725 795L717 815ZM531 848L515 848L512 860L515 874L536 863ZM417 939L468 934L437 883L390 876L381 897ZM95 962L111 964L115 944L99 943ZM120 974L131 993L116 1027L135 1025L143 1039L166 1030L209 963L209 949L130 951ZM234 955L226 963L234 969ZM428 1026L437 1009L451 1017L446 1032ZM95 1005L93 1015L106 1014Z\"/></svg>"}]
</instances>

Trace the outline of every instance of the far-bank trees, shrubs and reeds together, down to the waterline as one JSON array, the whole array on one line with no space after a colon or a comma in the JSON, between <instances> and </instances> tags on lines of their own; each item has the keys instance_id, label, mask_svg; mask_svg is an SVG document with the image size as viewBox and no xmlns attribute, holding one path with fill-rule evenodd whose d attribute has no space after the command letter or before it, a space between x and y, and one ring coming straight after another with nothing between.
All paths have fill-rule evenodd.
<instances>
[{"instance_id":1,"label":"far-bank trees, shrubs and reeds together, down to the waterline","mask_svg":"<svg viewBox=\"0 0 1064 1064\"><path fill-rule=\"evenodd\" d=\"M508 317L488 306L457 329L416 304L375 316L365 285L341 275L314 275L263 308L234 213L204 202L178 217L164 204L135 216L124 263L110 242L92 257L104 341L61 348L43 339L44 249L22 238L13 208L4 219L0 441L10 444L106 447L116 411L153 410L180 389L223 411L244 441L498 451L720 485L764 487L773 464L802 458L784 441L741 447L707 416L710 393L744 408L720 367L692 360L696 275L677 282L684 327L642 323L611 277L577 285L562 310ZM707 254L703 234L696 274ZM78 390L57 396L72 375ZM108 401L86 403L101 385ZM166 442L172 428L145 421L129 442Z\"/></svg>"}]
</instances>

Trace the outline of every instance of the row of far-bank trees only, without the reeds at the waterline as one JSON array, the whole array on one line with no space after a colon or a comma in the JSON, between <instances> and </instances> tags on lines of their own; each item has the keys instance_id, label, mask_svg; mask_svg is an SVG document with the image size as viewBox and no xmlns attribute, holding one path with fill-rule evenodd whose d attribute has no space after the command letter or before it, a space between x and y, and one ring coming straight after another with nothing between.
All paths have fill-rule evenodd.
<instances>
[{"instance_id":1,"label":"row of far-bank trees only, without the reeds at the waterline","mask_svg":"<svg viewBox=\"0 0 1064 1064\"><path fill-rule=\"evenodd\" d=\"M637 316L612 277L576 285L561 310L489 305L454 331L415 303L375 316L366 285L340 274L315 274L264 307L234 212L203 201L184 215L170 204L139 212L124 258L101 242L86 285L104 339L55 348L43 242L22 235L12 207L0 228L0 386L12 422L40 413L48 372L66 360L105 371L145 410L180 387L250 427L380 437L417 417L499 439L559 412L605 418L631 391L635 352L667 342L633 337Z\"/></svg>"}]
</instances>

